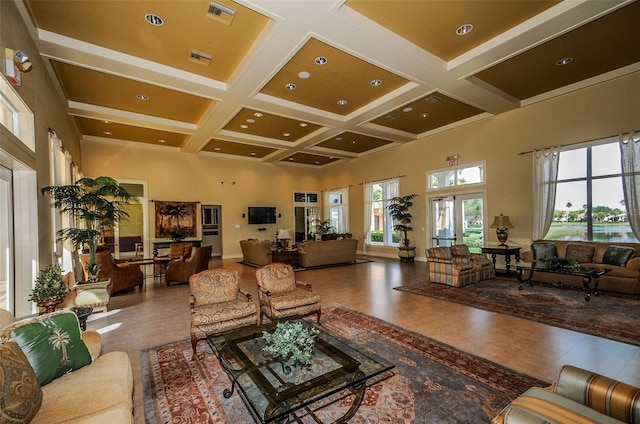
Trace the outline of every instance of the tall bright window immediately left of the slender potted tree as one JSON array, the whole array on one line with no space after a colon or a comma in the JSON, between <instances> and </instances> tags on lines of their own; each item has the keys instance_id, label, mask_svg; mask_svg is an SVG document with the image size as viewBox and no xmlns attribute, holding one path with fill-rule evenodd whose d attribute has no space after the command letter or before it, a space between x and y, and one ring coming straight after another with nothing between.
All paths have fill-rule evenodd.
<instances>
[{"instance_id":1,"label":"tall bright window immediately left of the slender potted tree","mask_svg":"<svg viewBox=\"0 0 640 424\"><path fill-rule=\"evenodd\" d=\"M389 215L389 200L398 195L397 179L377 181L364 185L365 189L365 233L367 243L381 246L397 246L399 236L393 231L393 220Z\"/></svg>"}]
</instances>

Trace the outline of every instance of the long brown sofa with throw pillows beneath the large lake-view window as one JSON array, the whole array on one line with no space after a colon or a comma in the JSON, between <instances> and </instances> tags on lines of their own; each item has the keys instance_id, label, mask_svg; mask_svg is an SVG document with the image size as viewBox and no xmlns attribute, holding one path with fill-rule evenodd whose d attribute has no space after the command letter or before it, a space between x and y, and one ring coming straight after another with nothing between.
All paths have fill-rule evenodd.
<instances>
[{"instance_id":1,"label":"long brown sofa with throw pillows beneath the large lake-view window","mask_svg":"<svg viewBox=\"0 0 640 424\"><path fill-rule=\"evenodd\" d=\"M536 240L531 250L522 252L520 257L527 262L557 257L587 267L610 269L600 277L599 290L640 294L640 243ZM534 271L532 280L582 286L582 277L565 274Z\"/></svg>"}]
</instances>

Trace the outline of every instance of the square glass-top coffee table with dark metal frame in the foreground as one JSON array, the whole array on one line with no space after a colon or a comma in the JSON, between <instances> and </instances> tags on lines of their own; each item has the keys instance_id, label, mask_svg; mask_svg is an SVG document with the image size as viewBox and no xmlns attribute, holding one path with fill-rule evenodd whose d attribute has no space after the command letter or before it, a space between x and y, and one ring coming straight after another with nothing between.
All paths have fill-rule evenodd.
<instances>
[{"instance_id":1,"label":"square glass-top coffee table with dark metal frame in the foreground","mask_svg":"<svg viewBox=\"0 0 640 424\"><path fill-rule=\"evenodd\" d=\"M367 380L392 370L394 365L329 334L321 326L303 319L292 321L320 331L309 366L291 365L263 354L262 332L275 330L275 322L208 337L209 346L231 377L231 389L225 389L224 396L230 397L237 386L260 423L295 422L300 413L310 414L315 422L320 422L311 404L349 389L355 395L353 404L342 418L334 421L348 422L364 398Z\"/></svg>"}]
</instances>

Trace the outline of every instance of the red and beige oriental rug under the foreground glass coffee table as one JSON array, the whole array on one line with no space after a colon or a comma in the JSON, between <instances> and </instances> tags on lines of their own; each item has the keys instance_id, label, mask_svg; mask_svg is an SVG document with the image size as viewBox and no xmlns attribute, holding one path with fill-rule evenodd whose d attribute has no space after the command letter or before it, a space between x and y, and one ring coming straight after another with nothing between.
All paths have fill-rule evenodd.
<instances>
[{"instance_id":1,"label":"red and beige oriental rug under the foreground glass coffee table","mask_svg":"<svg viewBox=\"0 0 640 424\"><path fill-rule=\"evenodd\" d=\"M322 326L396 366L369 384L351 423L487 423L529 387L548 385L342 306L323 311ZM206 342L196 356L188 340L141 352L146 423L253 424L238 393L223 397L230 380ZM333 422L351 400L345 391L315 413Z\"/></svg>"}]
</instances>

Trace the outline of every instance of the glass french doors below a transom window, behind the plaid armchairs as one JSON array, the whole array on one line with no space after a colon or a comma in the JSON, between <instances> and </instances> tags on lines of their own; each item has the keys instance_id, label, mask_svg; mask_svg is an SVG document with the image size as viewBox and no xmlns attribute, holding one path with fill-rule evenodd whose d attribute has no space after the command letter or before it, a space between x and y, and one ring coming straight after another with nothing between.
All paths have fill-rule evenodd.
<instances>
[{"instance_id":1,"label":"glass french doors below a transom window, behind the plaid armchairs","mask_svg":"<svg viewBox=\"0 0 640 424\"><path fill-rule=\"evenodd\" d=\"M431 247L463 243L480 252L485 235L483 193L432 197Z\"/></svg>"}]
</instances>

